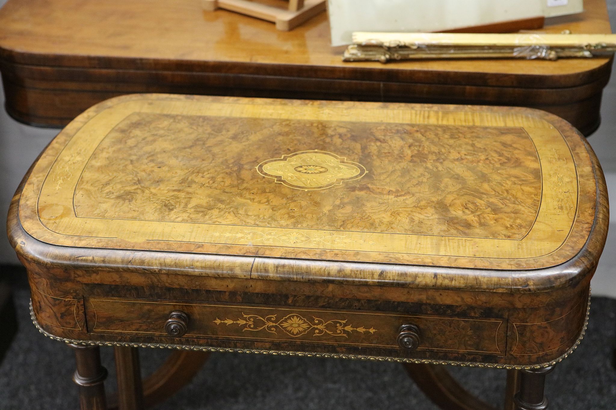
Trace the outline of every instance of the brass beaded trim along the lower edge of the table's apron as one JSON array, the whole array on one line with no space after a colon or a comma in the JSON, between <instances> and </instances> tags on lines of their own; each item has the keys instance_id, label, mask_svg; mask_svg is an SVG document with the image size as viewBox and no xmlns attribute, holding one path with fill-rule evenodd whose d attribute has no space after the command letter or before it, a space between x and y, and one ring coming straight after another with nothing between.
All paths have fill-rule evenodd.
<instances>
[{"instance_id":1,"label":"brass beaded trim along the lower edge of the table's apron","mask_svg":"<svg viewBox=\"0 0 616 410\"><path fill-rule=\"evenodd\" d=\"M30 318L34 326L44 336L49 337L55 341L65 342L67 344L81 344L81 345L98 345L98 346L124 346L124 347L151 347L152 349L177 349L177 350L193 350L197 352L230 352L230 353L253 353L259 355L272 355L272 356L296 356L296 357L325 357L336 359L351 359L351 360L370 360L370 361L387 361L392 363L413 363L415 365L450 365L461 366L469 368L485 368L485 369L515 369L515 370L530 370L541 369L549 366L554 366L556 363L560 363L567 358L573 350L577 349L580 342L586 334L586 328L588 327L588 317L590 315L590 291L588 293L588 306L586 307L586 318L584 319L584 326L582 333L578 337L575 344L571 349L567 350L564 355L556 358L547 363L541 363L540 365L522 366L522 365L501 365L498 363L474 363L472 361L450 361L450 360L430 360L430 359L407 359L402 357L386 357L386 356L366 356L366 355L349 355L347 353L313 353L313 352L288 352L285 350L261 350L261 349L237 349L235 347L210 347L210 346L190 346L190 345L176 345L176 344L161 344L161 343L129 343L129 342L103 342L103 341L83 341L76 339L65 339L64 337L54 336L48 333L41 325L39 325L36 317L34 317L34 309L32 307L32 300L30 299Z\"/></svg>"}]
</instances>

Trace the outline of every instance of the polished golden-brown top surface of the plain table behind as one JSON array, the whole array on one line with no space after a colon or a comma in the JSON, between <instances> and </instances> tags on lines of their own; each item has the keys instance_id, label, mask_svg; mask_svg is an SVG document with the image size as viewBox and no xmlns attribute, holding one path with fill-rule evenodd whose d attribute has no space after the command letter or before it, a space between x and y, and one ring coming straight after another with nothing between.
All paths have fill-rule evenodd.
<instances>
[{"instance_id":1,"label":"polished golden-brown top surface of the plain table behind","mask_svg":"<svg viewBox=\"0 0 616 410\"><path fill-rule=\"evenodd\" d=\"M541 31L611 33L604 0L586 0L585 9L581 15L548 20ZM280 32L269 22L227 10L205 12L200 2L192 0L173 3L10 0L0 12L0 27L4 58L22 64L92 68L102 68L100 60L105 57L124 57L130 60L105 61L108 63L105 66L142 68L132 59L147 59L148 65L161 68L166 63L176 66L182 61L211 61L270 65L271 72L275 73L281 65L301 65L307 66L306 70L317 66L329 73L340 73L342 69L353 77L373 73L376 77L401 81L413 78L413 81L434 82L439 74L456 73L458 84L473 84L474 78L484 78L481 74L501 74L501 81L491 85L514 87L532 80L538 87L546 88L590 82L593 70L609 61L608 58L573 58L556 63L527 60L343 63L345 47L331 47L326 13L294 30ZM238 73L248 72L248 67L236 67Z\"/></svg>"}]
</instances>

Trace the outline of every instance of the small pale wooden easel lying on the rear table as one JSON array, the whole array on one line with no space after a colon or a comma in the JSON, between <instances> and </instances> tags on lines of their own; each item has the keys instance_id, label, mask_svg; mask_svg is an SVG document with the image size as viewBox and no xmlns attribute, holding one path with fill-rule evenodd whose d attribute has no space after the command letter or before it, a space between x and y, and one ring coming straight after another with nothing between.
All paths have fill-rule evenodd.
<instances>
[{"instance_id":1,"label":"small pale wooden easel lying on the rear table","mask_svg":"<svg viewBox=\"0 0 616 410\"><path fill-rule=\"evenodd\" d=\"M262 18L276 23L276 28L282 31L293 28L306 22L311 17L325 11L326 0L288 0L287 10L275 6L268 6L253 0L201 0L203 9L213 11L225 9Z\"/></svg>"}]
</instances>

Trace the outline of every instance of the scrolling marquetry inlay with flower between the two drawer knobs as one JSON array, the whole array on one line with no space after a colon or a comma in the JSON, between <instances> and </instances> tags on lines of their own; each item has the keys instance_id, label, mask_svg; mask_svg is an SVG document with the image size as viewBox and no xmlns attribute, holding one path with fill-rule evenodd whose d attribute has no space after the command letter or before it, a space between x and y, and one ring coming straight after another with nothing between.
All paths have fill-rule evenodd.
<instances>
[{"instance_id":1,"label":"scrolling marquetry inlay with flower between the two drawer knobs","mask_svg":"<svg viewBox=\"0 0 616 410\"><path fill-rule=\"evenodd\" d=\"M270 333L276 333L277 329L284 331L291 336L300 336L305 333L312 333L312 336L322 336L323 334L331 334L331 336L347 337L350 333L355 331L359 333L369 332L374 334L376 329L370 327L370 329L359 326L357 328L347 325L347 320L323 320L318 317L313 317L312 321L298 315L297 313L291 313L286 315L280 320L276 319L277 315L268 315L261 317L259 315L245 315L242 313L241 318L237 320L225 318L221 320L216 318L214 323L216 325L232 325L237 324L243 331L259 331L265 329ZM314 332L312 332L314 330Z\"/></svg>"}]
</instances>

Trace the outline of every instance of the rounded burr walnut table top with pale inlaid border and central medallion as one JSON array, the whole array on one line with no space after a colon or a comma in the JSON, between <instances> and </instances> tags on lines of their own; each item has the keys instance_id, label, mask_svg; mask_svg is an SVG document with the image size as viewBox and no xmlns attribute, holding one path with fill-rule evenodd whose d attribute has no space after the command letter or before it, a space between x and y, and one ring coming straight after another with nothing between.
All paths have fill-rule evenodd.
<instances>
[{"instance_id":1,"label":"rounded burr walnut table top with pale inlaid border and central medallion","mask_svg":"<svg viewBox=\"0 0 616 410\"><path fill-rule=\"evenodd\" d=\"M593 161L532 109L131 95L52 141L18 218L92 263L158 251L130 257L224 277L541 288L588 270L601 242Z\"/></svg>"}]
</instances>

